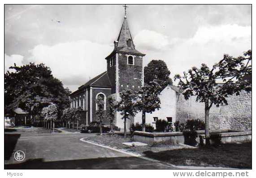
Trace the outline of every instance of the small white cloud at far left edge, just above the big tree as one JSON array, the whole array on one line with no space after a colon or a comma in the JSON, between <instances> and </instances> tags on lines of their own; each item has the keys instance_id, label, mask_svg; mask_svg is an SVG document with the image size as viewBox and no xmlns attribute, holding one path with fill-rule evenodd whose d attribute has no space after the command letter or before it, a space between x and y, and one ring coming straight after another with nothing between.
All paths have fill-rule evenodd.
<instances>
[{"instance_id":1,"label":"small white cloud at far left edge, just above the big tree","mask_svg":"<svg viewBox=\"0 0 256 178\"><path fill-rule=\"evenodd\" d=\"M22 55L7 55L4 54L4 73L9 71L9 72L15 72L14 69L9 69L9 67L14 66L14 63L17 66L22 65L23 61L23 56Z\"/></svg>"}]
</instances>

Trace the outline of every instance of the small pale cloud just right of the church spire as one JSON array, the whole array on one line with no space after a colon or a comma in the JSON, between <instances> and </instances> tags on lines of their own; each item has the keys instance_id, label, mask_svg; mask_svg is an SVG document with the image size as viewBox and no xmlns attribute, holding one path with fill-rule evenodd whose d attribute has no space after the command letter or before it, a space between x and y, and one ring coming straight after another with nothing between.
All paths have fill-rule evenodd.
<instances>
[{"instance_id":1,"label":"small pale cloud just right of the church spire","mask_svg":"<svg viewBox=\"0 0 256 178\"><path fill-rule=\"evenodd\" d=\"M141 30L134 38L136 46L142 50L159 51L169 45L168 37L151 30Z\"/></svg>"}]
</instances>

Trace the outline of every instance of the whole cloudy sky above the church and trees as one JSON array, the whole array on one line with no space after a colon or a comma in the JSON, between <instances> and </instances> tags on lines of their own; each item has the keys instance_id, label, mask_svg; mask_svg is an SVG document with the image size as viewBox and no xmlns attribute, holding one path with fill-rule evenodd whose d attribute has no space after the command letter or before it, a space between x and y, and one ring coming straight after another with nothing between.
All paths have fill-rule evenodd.
<instances>
[{"instance_id":1,"label":"whole cloudy sky above the church and trees","mask_svg":"<svg viewBox=\"0 0 256 178\"><path fill-rule=\"evenodd\" d=\"M123 17L122 5L4 5L4 72L44 63L75 91L106 71ZM252 48L251 5L128 4L127 21L144 65L164 60L171 78Z\"/></svg>"}]
</instances>

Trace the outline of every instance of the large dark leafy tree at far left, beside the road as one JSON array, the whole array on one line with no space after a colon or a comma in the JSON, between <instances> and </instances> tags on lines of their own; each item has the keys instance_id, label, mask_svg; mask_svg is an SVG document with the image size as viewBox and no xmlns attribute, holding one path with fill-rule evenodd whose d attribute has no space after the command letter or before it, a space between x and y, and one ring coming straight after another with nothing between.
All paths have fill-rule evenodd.
<instances>
[{"instance_id":1,"label":"large dark leafy tree at far left, beside the road","mask_svg":"<svg viewBox=\"0 0 256 178\"><path fill-rule=\"evenodd\" d=\"M5 112L20 107L28 111L32 119L43 107L55 103L58 117L61 117L62 110L69 107L70 91L52 76L50 68L34 63L20 67L14 64L10 68L15 72L7 71L4 74Z\"/></svg>"}]
</instances>

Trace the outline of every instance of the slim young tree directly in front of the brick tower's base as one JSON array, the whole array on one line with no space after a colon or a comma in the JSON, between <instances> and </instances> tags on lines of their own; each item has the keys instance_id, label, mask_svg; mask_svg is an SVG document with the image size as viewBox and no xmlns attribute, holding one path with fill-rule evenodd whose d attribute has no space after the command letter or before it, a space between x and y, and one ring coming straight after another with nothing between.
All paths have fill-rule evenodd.
<instances>
[{"instance_id":1,"label":"slim young tree directly in front of the brick tower's base","mask_svg":"<svg viewBox=\"0 0 256 178\"><path fill-rule=\"evenodd\" d=\"M120 101L117 102L117 111L120 111L120 114L124 119L124 136L126 137L126 119L129 119L129 116L135 116L137 114L137 108L135 102L137 100L137 94L130 89L121 91Z\"/></svg>"}]
</instances>

